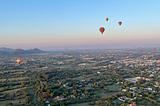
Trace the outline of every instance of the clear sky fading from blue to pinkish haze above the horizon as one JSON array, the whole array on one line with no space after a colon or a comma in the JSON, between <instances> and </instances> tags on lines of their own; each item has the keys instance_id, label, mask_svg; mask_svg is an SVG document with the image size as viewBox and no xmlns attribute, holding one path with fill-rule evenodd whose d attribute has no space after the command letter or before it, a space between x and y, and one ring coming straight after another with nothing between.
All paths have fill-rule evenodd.
<instances>
[{"instance_id":1,"label":"clear sky fading from blue to pinkish haze above the horizon","mask_svg":"<svg viewBox=\"0 0 160 106\"><path fill-rule=\"evenodd\" d=\"M158 46L159 11L160 0L0 0L0 47Z\"/></svg>"}]
</instances>

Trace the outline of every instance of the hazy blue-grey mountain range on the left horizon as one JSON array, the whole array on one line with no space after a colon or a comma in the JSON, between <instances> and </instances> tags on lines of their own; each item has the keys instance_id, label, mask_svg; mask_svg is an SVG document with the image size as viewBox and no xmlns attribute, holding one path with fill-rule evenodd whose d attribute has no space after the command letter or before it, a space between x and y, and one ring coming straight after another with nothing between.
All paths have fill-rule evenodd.
<instances>
[{"instance_id":1,"label":"hazy blue-grey mountain range on the left horizon","mask_svg":"<svg viewBox=\"0 0 160 106\"><path fill-rule=\"evenodd\" d=\"M34 54L34 53L46 53L40 49L34 48L29 50L23 49L11 49L11 48L0 48L0 55L9 55L9 54Z\"/></svg>"}]
</instances>

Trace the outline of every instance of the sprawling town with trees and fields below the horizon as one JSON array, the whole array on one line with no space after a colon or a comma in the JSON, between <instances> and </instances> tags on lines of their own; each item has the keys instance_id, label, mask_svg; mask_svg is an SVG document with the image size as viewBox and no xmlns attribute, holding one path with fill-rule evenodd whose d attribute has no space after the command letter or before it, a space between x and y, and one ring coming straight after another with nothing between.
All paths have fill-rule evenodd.
<instances>
[{"instance_id":1,"label":"sprawling town with trees and fields below the horizon","mask_svg":"<svg viewBox=\"0 0 160 106\"><path fill-rule=\"evenodd\" d=\"M150 48L1 55L0 105L159 106L159 72Z\"/></svg>"}]
</instances>

